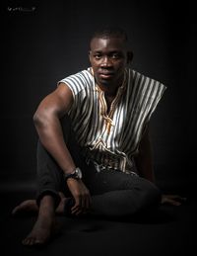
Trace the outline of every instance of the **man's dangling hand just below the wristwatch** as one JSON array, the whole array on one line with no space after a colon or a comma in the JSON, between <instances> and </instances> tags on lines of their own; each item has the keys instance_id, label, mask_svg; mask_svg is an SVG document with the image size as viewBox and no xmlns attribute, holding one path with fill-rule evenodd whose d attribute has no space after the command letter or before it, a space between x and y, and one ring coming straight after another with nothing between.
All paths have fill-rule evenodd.
<instances>
[{"instance_id":1,"label":"man's dangling hand just below the wristwatch","mask_svg":"<svg viewBox=\"0 0 197 256\"><path fill-rule=\"evenodd\" d=\"M75 205L72 207L71 213L75 215L88 213L91 208L92 198L83 181L68 178L67 185L75 199Z\"/></svg>"}]
</instances>

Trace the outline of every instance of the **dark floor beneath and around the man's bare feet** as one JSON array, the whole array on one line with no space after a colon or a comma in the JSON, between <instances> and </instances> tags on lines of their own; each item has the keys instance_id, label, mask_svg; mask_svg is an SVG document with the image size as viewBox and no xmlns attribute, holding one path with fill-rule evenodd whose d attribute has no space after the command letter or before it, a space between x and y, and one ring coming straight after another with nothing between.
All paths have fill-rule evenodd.
<instances>
[{"instance_id":1,"label":"dark floor beneath and around the man's bare feet","mask_svg":"<svg viewBox=\"0 0 197 256\"><path fill-rule=\"evenodd\" d=\"M180 207L163 206L155 216L146 219L59 216L59 236L45 248L30 249L21 240L31 230L35 216L14 218L10 213L21 201L34 197L33 182L1 182L0 255L194 255L197 204L193 191L179 185L175 193L179 190L188 198Z\"/></svg>"}]
</instances>

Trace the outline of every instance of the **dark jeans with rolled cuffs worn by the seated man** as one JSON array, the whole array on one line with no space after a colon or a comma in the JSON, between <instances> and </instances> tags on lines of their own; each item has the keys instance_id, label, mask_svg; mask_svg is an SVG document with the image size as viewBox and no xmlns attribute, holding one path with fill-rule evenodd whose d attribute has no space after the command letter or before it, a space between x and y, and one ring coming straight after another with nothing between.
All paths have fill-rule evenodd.
<instances>
[{"instance_id":1,"label":"dark jeans with rolled cuffs worn by the seated man","mask_svg":"<svg viewBox=\"0 0 197 256\"><path fill-rule=\"evenodd\" d=\"M68 129L66 131L68 132ZM80 150L70 134L65 135L65 140L76 165L82 169L83 182L92 195L93 213L106 216L131 215L150 211L159 206L161 192L153 183L121 171L102 170L98 172L94 164L87 165L83 161ZM69 206L73 205L74 200L66 186L63 172L39 141L37 183L37 204L43 195L49 194L54 197L56 206L58 206L60 202L58 192L61 191L71 199L66 208L69 212Z\"/></svg>"}]
</instances>

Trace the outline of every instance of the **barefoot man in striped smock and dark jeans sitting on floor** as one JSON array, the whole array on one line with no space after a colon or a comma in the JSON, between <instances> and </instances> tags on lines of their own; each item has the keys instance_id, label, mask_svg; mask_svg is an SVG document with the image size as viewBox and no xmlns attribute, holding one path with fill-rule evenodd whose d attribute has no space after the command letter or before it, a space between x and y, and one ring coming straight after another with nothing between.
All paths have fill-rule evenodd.
<instances>
[{"instance_id":1,"label":"barefoot man in striped smock and dark jeans sitting on floor","mask_svg":"<svg viewBox=\"0 0 197 256\"><path fill-rule=\"evenodd\" d=\"M38 213L25 245L49 240L55 212L124 216L161 203L149 121L165 87L128 67L132 52L121 29L97 32L89 57L91 67L60 81L33 116L37 199L13 211Z\"/></svg>"}]
</instances>

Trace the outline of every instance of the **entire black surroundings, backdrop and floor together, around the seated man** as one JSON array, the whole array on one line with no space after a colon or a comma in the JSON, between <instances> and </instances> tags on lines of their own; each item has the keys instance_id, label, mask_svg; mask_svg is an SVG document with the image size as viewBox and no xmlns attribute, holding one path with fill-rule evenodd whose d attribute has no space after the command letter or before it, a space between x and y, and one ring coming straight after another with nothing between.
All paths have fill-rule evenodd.
<instances>
[{"instance_id":1,"label":"entire black surroundings, backdrop and floor together, around the seated man","mask_svg":"<svg viewBox=\"0 0 197 256\"><path fill-rule=\"evenodd\" d=\"M1 1L1 255L196 255L197 23L191 2ZM90 36L108 24L128 32L133 68L167 86L151 122L155 172L164 191L188 201L142 222L61 218L60 237L43 251L30 250L21 240L35 216L10 213L34 196L33 113L58 80L89 66Z\"/></svg>"}]
</instances>

